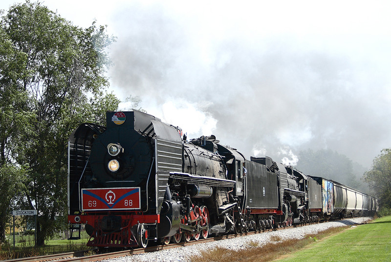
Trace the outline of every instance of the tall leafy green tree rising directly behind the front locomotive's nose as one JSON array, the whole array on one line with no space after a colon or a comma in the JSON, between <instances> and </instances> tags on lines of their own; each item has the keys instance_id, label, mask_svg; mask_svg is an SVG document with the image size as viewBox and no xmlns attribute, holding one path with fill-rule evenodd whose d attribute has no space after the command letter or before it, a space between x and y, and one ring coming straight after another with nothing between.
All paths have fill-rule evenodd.
<instances>
[{"instance_id":1,"label":"tall leafy green tree rising directly behind the front locomotive's nose","mask_svg":"<svg viewBox=\"0 0 391 262\"><path fill-rule=\"evenodd\" d=\"M22 94L28 94L30 102L23 104L34 118L27 121L32 132L25 132L28 140L18 143L14 159L29 167L20 205L38 210L37 242L42 245L66 222L69 134L78 123L95 121L103 110L118 105L112 94L102 93L110 64L106 48L114 39L104 26L93 22L79 28L30 1L12 6L2 17L1 28L15 54L23 57L18 83Z\"/></svg>"}]
</instances>

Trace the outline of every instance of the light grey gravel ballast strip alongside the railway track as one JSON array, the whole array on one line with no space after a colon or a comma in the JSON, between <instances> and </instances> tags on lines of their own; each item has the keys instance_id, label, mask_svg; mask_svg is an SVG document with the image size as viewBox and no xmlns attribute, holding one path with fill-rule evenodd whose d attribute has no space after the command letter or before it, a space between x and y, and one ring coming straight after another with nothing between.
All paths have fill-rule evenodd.
<instances>
[{"instance_id":1,"label":"light grey gravel ballast strip alongside the railway track","mask_svg":"<svg viewBox=\"0 0 391 262\"><path fill-rule=\"evenodd\" d=\"M281 241L289 239L302 239L305 235L317 234L318 232L325 231L331 227L363 224L369 222L370 220L372 220L372 218L366 217L312 224L278 231L263 232L233 239L224 239L207 243L199 243L196 245L171 248L152 253L109 259L105 260L105 262L188 262L188 258L190 256L199 254L200 250L210 250L217 246L235 250L253 248L254 246L257 246L257 243L258 246L262 246L268 242L273 242L270 240L272 237L274 239L278 237L278 239L281 239Z\"/></svg>"}]
</instances>

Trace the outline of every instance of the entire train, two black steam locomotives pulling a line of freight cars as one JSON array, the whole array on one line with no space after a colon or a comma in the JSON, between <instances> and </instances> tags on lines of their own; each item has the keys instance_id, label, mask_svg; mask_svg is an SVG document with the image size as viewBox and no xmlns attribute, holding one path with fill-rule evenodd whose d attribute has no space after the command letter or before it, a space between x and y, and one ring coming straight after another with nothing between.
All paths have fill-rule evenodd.
<instances>
[{"instance_id":1,"label":"entire train, two black steam locomotives pulling a line of freight cars","mask_svg":"<svg viewBox=\"0 0 391 262\"><path fill-rule=\"evenodd\" d=\"M181 132L136 110L79 125L68 141L71 237L85 224L87 245L146 247L376 211L338 182Z\"/></svg>"}]
</instances>

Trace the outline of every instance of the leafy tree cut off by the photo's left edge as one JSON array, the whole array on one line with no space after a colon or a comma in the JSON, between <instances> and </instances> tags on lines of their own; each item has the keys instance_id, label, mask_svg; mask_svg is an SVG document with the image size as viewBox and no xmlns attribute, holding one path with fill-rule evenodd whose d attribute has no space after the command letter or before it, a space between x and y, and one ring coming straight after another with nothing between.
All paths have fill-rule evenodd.
<instances>
[{"instance_id":1,"label":"leafy tree cut off by the photo's left edge","mask_svg":"<svg viewBox=\"0 0 391 262\"><path fill-rule=\"evenodd\" d=\"M0 242L5 240L13 200L23 188L26 167L15 165L15 161L35 119L28 106L31 100L22 87L26 57L0 27Z\"/></svg>"}]
</instances>

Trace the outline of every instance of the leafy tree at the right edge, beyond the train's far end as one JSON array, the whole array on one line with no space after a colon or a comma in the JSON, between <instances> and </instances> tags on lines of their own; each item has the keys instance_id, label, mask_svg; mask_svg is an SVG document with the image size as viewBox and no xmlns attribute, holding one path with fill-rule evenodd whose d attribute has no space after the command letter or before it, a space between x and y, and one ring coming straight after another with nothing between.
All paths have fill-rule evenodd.
<instances>
[{"instance_id":1,"label":"leafy tree at the right edge, beyond the train's far end","mask_svg":"<svg viewBox=\"0 0 391 262\"><path fill-rule=\"evenodd\" d=\"M365 181L379 201L382 208L391 208L391 148L383 149L365 172Z\"/></svg>"}]
</instances>

